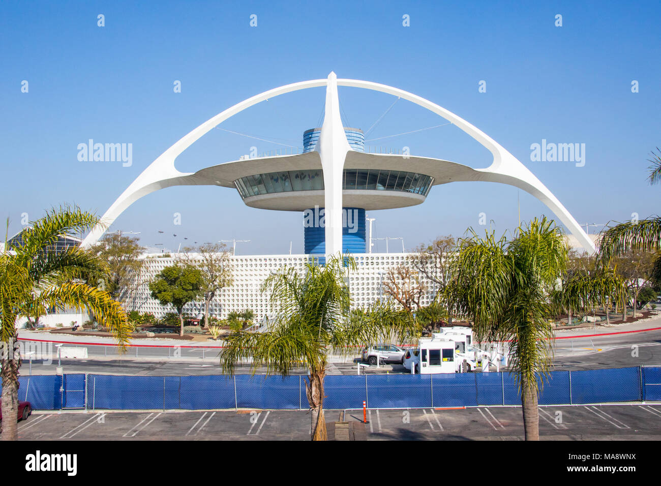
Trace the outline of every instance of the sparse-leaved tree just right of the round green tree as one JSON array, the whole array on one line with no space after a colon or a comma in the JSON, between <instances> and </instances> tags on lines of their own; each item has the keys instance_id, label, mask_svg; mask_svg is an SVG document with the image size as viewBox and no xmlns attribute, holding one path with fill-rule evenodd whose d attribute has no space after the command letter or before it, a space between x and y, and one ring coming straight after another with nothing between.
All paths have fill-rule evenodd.
<instances>
[{"instance_id":1,"label":"sparse-leaved tree just right of the round green tree","mask_svg":"<svg viewBox=\"0 0 661 486\"><path fill-rule=\"evenodd\" d=\"M194 252L194 253L192 253ZM233 284L230 253L225 250L224 243L206 243L198 248L184 248L184 261L192 268L202 272L204 280L202 294L204 295L204 323L209 321L209 306L215 295L223 288Z\"/></svg>"}]
</instances>

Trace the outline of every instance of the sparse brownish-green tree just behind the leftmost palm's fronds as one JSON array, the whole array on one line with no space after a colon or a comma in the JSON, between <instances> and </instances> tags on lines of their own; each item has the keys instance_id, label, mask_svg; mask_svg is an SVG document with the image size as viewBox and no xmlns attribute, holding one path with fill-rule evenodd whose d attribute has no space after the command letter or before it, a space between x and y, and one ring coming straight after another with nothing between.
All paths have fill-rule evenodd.
<instances>
[{"instance_id":1,"label":"sparse brownish-green tree just behind the leftmost palm's fronds","mask_svg":"<svg viewBox=\"0 0 661 486\"><path fill-rule=\"evenodd\" d=\"M145 261L140 258L144 247L138 244L137 237L130 237L118 233L106 233L92 251L108 262L110 276L108 282L98 282L98 286L105 286L114 300L123 302L130 309L136 310L135 296L142 281ZM139 306L137 306L139 307Z\"/></svg>"}]
</instances>

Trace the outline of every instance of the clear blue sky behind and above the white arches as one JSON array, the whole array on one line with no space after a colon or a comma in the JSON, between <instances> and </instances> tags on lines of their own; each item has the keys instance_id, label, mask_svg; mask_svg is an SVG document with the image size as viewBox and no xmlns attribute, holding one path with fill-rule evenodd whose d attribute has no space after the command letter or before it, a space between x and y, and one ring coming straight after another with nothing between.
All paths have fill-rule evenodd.
<instances>
[{"instance_id":1,"label":"clear blue sky behind and above the white arches","mask_svg":"<svg viewBox=\"0 0 661 486\"><path fill-rule=\"evenodd\" d=\"M100 215L151 161L208 118L330 71L405 89L465 118L529 167L579 223L658 214L660 188L645 178L646 159L661 146L661 4L574 4L3 2L1 216L11 219L12 234L22 214L34 220L62 202ZM21 92L24 80L28 93ZM173 92L175 80L181 93ZM478 91L482 80L486 93ZM633 80L639 93L631 92ZM323 100L323 89L283 95L220 127L300 147ZM367 130L394 98L340 88L340 100L344 124ZM399 101L368 139L443 122ZM79 161L77 145L89 139L132 143L131 167ZM585 143L584 167L531 161L531 143L543 139ZM406 145L413 155L471 167L491 161L451 125L368 144ZM212 130L176 166L194 171L235 160L252 146L261 152L282 145ZM480 229L481 212L498 233L512 229L518 198L522 220L553 216L529 194L488 183L435 186L420 206L371 216L375 236L404 237L410 249L437 235L462 235L471 225ZM302 219L248 208L233 189L175 187L145 196L111 229L139 231L141 243L175 250L179 243L236 238L251 240L237 253L288 253L290 241L299 253ZM385 251L383 241L377 244Z\"/></svg>"}]
</instances>

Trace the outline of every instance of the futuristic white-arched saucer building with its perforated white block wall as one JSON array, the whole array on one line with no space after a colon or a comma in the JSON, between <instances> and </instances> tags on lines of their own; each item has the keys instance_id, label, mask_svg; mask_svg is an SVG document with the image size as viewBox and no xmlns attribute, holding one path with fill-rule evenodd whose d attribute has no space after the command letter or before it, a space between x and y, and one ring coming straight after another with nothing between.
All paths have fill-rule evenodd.
<instances>
[{"instance_id":1,"label":"futuristic white-arched saucer building with its perforated white block wall","mask_svg":"<svg viewBox=\"0 0 661 486\"><path fill-rule=\"evenodd\" d=\"M418 104L451 122L481 143L493 155L486 169L418 157L410 153L371 153L365 151L360 128L342 124L338 86L380 91ZM270 98L301 89L325 87L325 115L321 127L303 133L301 153L267 157L240 157L219 165L182 173L175 159L192 143L231 116ZM387 85L356 79L338 79L331 73L326 79L301 81L271 89L231 106L186 134L149 165L120 195L87 235L82 245L93 245L106 227L137 199L170 186L213 185L236 190L244 204L253 208L299 212L303 220L303 255L247 255L231 257L234 285L225 288L212 305L212 315L225 317L229 311L253 309L258 319L272 313L268 296L260 292L263 280L282 266L303 269L314 258L323 264L329 255L351 253L358 270L349 277L354 305L364 307L383 298L383 278L387 270L410 266L410 253L371 253L366 212L405 208L422 204L434 186L455 181L483 181L510 184L532 194L555 213L578 246L594 251L594 242L551 191L514 155L478 128L442 106ZM176 254L144 256L147 261L145 283L139 287L134 307L163 315L165 309L149 296L147 281L167 265L176 263ZM422 304L428 304L438 288L424 275L426 288ZM200 304L186 308L197 313Z\"/></svg>"}]
</instances>

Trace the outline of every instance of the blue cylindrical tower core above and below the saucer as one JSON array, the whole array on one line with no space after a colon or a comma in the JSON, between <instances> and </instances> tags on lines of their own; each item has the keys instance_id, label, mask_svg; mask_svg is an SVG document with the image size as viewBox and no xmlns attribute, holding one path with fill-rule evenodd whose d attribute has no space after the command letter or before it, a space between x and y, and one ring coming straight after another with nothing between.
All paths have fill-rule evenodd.
<instances>
[{"instance_id":1,"label":"blue cylindrical tower core above and below the saucer","mask_svg":"<svg viewBox=\"0 0 661 486\"><path fill-rule=\"evenodd\" d=\"M311 152L317 147L321 128L311 128L303 132L303 152ZM352 149L365 150L365 134L360 128L344 127L346 140ZM324 208L311 208L303 212L303 237L306 255L324 255L326 252L326 228ZM363 208L342 208L342 253L366 253L365 210Z\"/></svg>"}]
</instances>

